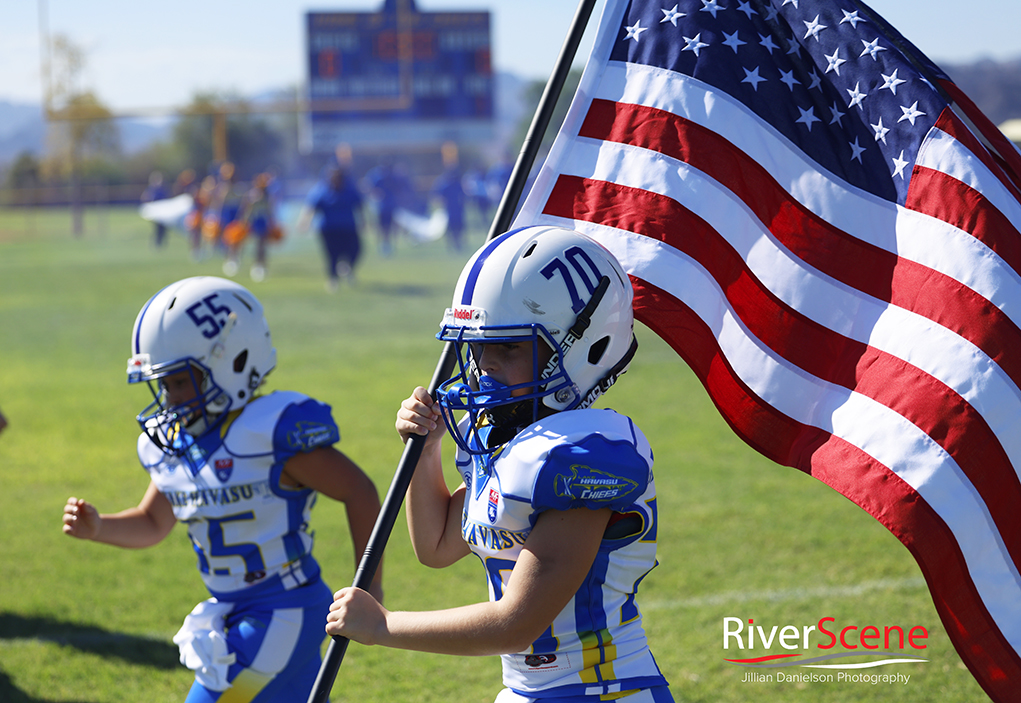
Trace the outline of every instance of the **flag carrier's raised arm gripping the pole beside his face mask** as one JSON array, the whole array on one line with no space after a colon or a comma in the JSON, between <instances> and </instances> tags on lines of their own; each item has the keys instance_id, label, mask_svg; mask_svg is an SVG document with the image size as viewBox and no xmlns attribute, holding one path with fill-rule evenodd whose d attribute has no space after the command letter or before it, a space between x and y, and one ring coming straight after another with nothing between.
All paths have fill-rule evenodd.
<instances>
[{"instance_id":1,"label":"flag carrier's raised arm gripping the pole beside his face mask","mask_svg":"<svg viewBox=\"0 0 1021 703\"><path fill-rule=\"evenodd\" d=\"M446 425L440 416L439 405L426 389L420 386L401 403L396 428L405 443L412 435L426 437L405 501L407 531L415 555L427 566L449 566L469 554L468 545L460 536L465 487L451 495L443 478L441 440Z\"/></svg>"}]
</instances>

